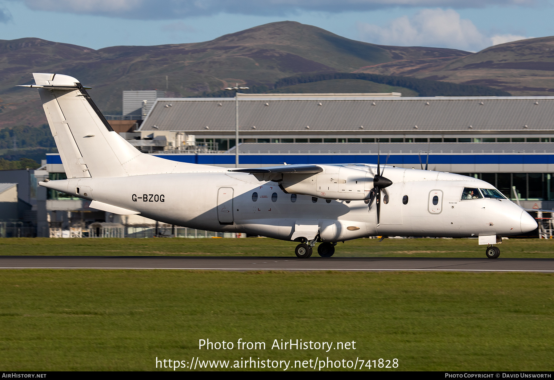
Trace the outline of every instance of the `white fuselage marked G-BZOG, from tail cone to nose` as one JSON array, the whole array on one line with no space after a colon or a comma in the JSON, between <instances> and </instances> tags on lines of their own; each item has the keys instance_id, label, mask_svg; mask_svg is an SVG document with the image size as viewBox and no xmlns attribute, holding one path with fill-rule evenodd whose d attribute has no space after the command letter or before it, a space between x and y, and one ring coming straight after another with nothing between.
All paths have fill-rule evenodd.
<instances>
[{"instance_id":1,"label":"white fuselage marked G-BZOG, from tail cone to nose","mask_svg":"<svg viewBox=\"0 0 554 380\"><path fill-rule=\"evenodd\" d=\"M371 171L372 167L363 170ZM320 239L329 242L375 235L512 235L536 226L529 214L508 199L461 200L464 187L493 188L479 179L394 167L386 168L386 176L393 184L385 189L388 200L381 204L378 225L375 203L368 208L363 200L293 196L276 182L260 182L246 173L75 178L50 181L47 187L71 194L79 187L80 196L86 199L136 210L144 217L182 227L283 240L299 237L302 225L312 225ZM404 196L408 197L406 204ZM434 196L439 198L436 205Z\"/></svg>"}]
</instances>

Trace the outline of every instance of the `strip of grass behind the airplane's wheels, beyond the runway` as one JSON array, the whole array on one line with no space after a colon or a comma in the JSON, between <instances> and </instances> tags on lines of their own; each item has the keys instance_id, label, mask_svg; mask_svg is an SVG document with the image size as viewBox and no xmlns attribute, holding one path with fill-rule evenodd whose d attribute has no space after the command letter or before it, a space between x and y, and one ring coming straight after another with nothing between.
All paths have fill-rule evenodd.
<instances>
[{"instance_id":1,"label":"strip of grass behind the airplane's wheels, beyond the runway","mask_svg":"<svg viewBox=\"0 0 554 380\"><path fill-rule=\"evenodd\" d=\"M248 239L49 239L0 238L0 255L225 255L294 256L297 243ZM498 246L501 258L554 258L554 240L509 239ZM316 254L316 253L314 253ZM485 257L477 239L357 239L336 246L337 257Z\"/></svg>"}]
</instances>

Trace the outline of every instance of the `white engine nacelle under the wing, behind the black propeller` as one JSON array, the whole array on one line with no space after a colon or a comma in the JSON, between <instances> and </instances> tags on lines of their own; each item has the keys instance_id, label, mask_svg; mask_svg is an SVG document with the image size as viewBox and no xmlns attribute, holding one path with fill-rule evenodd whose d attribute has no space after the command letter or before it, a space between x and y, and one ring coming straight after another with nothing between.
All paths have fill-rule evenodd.
<instances>
[{"instance_id":1,"label":"white engine nacelle under the wing, behind the black propeller","mask_svg":"<svg viewBox=\"0 0 554 380\"><path fill-rule=\"evenodd\" d=\"M370 199L373 173L367 167L318 166L323 171L317 174L284 173L279 184L290 194L344 201Z\"/></svg>"}]
</instances>

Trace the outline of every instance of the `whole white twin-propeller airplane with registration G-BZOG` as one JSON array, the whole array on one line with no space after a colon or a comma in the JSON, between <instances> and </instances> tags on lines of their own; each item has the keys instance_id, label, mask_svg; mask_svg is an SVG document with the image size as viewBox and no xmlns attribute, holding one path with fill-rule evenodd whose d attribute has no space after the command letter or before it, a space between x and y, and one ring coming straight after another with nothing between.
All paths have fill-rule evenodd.
<instances>
[{"instance_id":1,"label":"whole white twin-propeller airplane with registration G-BZOG","mask_svg":"<svg viewBox=\"0 0 554 380\"><path fill-rule=\"evenodd\" d=\"M490 183L381 165L379 158L377 165L229 170L150 156L112 130L79 80L33 77L35 84L23 86L38 89L67 174L39 185L91 201L94 209L294 241L298 258L309 258L316 243L317 253L330 257L338 242L380 235L478 238L486 257L496 259L502 236L537 228Z\"/></svg>"}]
</instances>

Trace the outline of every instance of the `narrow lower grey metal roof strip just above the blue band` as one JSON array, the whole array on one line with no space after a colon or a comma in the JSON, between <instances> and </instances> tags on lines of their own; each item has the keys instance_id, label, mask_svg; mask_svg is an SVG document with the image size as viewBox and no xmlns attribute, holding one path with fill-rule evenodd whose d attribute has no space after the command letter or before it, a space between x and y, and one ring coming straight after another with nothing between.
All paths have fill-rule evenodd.
<instances>
[{"instance_id":1,"label":"narrow lower grey metal roof strip just above the blue band","mask_svg":"<svg viewBox=\"0 0 554 380\"><path fill-rule=\"evenodd\" d=\"M554 154L552 142L242 143L240 154ZM234 153L234 147L227 153Z\"/></svg>"}]
</instances>

